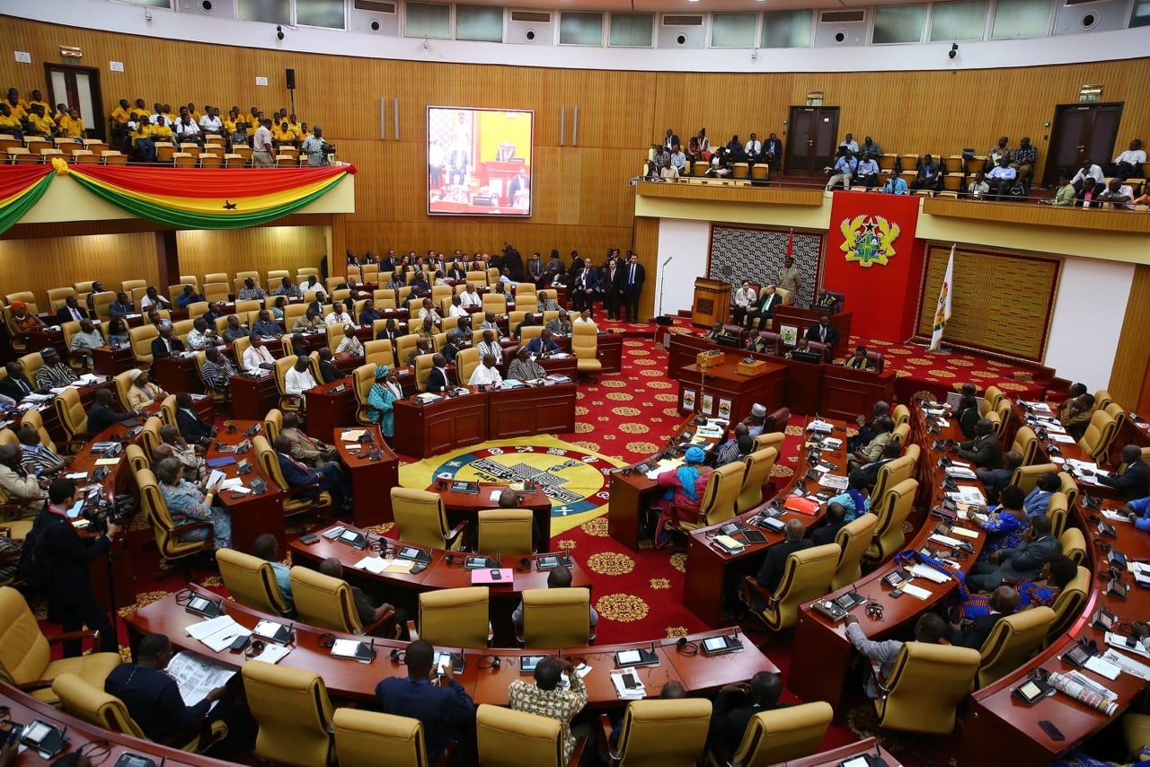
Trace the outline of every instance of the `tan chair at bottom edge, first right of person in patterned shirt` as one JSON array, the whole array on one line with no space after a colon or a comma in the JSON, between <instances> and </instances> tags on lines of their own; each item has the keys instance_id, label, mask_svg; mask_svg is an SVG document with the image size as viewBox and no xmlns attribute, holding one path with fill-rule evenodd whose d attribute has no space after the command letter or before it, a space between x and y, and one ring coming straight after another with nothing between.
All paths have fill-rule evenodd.
<instances>
[{"instance_id":1,"label":"tan chair at bottom edge, first right of person in patterned shirt","mask_svg":"<svg viewBox=\"0 0 1150 767\"><path fill-rule=\"evenodd\" d=\"M610 727L606 714L600 715ZM711 723L711 701L706 698L681 700L632 700L623 712L619 745L608 753L619 767L695 767L706 747Z\"/></svg>"}]
</instances>

